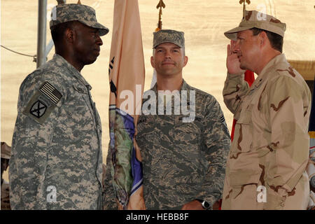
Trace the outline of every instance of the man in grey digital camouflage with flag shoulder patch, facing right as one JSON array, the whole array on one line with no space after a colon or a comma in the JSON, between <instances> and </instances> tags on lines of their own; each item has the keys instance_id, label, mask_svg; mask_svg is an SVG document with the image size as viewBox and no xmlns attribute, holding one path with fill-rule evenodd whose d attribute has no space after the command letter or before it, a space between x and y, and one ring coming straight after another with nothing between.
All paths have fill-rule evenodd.
<instances>
[{"instance_id":1,"label":"man in grey digital camouflage with flag shoulder patch, facing right","mask_svg":"<svg viewBox=\"0 0 315 224\"><path fill-rule=\"evenodd\" d=\"M102 209L101 120L80 71L97 59L109 29L80 4L53 8L50 29L56 54L20 86L11 207Z\"/></svg>"}]
</instances>

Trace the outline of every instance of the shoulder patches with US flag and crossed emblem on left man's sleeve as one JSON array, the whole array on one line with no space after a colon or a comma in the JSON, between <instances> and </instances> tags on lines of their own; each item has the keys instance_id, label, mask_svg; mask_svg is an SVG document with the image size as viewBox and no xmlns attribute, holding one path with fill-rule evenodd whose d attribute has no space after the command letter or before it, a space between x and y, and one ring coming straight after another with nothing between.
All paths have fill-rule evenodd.
<instances>
[{"instance_id":1,"label":"shoulder patches with US flag and crossed emblem on left man's sleeve","mask_svg":"<svg viewBox=\"0 0 315 224\"><path fill-rule=\"evenodd\" d=\"M45 82L31 97L23 113L37 123L43 124L61 98L62 94L53 85Z\"/></svg>"}]
</instances>

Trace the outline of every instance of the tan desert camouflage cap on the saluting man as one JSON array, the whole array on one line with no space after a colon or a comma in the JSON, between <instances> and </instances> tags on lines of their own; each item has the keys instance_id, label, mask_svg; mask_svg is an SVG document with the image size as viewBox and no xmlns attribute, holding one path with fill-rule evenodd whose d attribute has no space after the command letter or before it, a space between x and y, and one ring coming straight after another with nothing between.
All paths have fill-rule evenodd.
<instances>
[{"instance_id":1,"label":"tan desert camouflage cap on the saluting man","mask_svg":"<svg viewBox=\"0 0 315 224\"><path fill-rule=\"evenodd\" d=\"M260 13L256 10L245 10L244 17L239 23L239 26L226 31L224 35L231 40L237 40L237 32L243 31L251 28L265 29L271 31L274 34L279 34L284 36L284 31L286 31L286 24L280 22L272 15L267 15L265 13Z\"/></svg>"}]
</instances>

